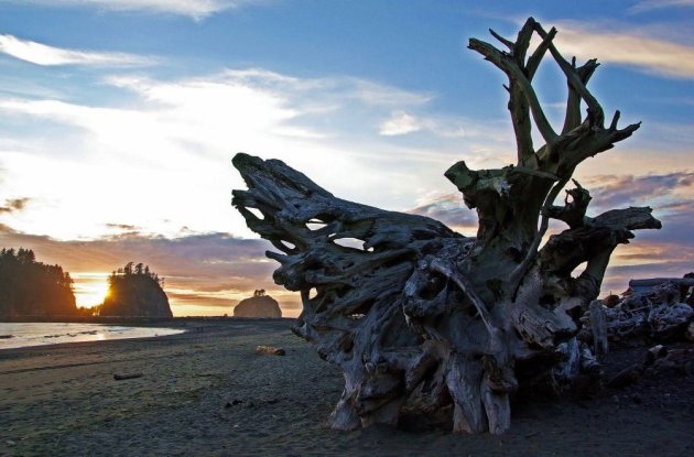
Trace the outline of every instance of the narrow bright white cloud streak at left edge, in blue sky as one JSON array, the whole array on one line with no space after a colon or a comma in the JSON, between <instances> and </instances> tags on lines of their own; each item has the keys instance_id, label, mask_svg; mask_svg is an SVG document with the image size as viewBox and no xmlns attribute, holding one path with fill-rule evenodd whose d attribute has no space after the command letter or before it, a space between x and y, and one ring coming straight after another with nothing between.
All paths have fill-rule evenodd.
<instances>
[{"instance_id":1,"label":"narrow bright white cloud streak at left edge, in blue sky","mask_svg":"<svg viewBox=\"0 0 694 457\"><path fill-rule=\"evenodd\" d=\"M156 59L126 53L65 50L48 46L12 35L0 35L0 52L43 66L140 66L152 65Z\"/></svg>"}]
</instances>

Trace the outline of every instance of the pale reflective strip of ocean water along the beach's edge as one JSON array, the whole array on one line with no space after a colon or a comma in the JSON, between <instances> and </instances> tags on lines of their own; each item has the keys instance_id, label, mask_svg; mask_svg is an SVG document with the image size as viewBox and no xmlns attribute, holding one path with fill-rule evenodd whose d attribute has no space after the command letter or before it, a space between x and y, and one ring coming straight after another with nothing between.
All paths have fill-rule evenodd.
<instances>
[{"instance_id":1,"label":"pale reflective strip of ocean water along the beach's edge","mask_svg":"<svg viewBox=\"0 0 694 457\"><path fill-rule=\"evenodd\" d=\"M0 323L0 349L181 334L175 328L77 323Z\"/></svg>"}]
</instances>

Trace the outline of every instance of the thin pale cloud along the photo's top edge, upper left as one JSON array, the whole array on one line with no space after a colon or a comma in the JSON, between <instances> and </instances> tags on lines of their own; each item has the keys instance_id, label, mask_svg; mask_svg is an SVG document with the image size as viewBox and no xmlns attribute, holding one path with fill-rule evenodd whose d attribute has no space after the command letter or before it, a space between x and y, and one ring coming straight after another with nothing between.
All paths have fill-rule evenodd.
<instances>
[{"instance_id":1,"label":"thin pale cloud along the photo's top edge, upper left","mask_svg":"<svg viewBox=\"0 0 694 457\"><path fill-rule=\"evenodd\" d=\"M133 11L187 15L202 20L227 10L265 4L278 0L9 0L17 3L32 3L52 8L93 7L105 11Z\"/></svg>"}]
</instances>

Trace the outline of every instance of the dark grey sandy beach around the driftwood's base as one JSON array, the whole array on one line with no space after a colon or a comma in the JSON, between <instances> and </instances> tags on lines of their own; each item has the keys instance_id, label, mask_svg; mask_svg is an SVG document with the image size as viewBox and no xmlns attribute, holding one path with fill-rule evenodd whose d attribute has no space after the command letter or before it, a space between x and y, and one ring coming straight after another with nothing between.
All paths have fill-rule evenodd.
<instances>
[{"instance_id":1,"label":"dark grey sandy beach around the driftwood's base","mask_svg":"<svg viewBox=\"0 0 694 457\"><path fill-rule=\"evenodd\" d=\"M694 379L674 373L592 400L516 405L503 436L327 429L341 377L291 323L187 320L175 326L192 331L170 337L0 351L0 455L694 455ZM607 370L641 355L617 350Z\"/></svg>"}]
</instances>

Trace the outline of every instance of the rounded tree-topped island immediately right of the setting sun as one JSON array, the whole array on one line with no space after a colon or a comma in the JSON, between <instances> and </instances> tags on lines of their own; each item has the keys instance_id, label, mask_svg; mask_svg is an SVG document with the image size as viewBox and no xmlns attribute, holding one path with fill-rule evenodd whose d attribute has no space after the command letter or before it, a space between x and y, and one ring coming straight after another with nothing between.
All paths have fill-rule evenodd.
<instances>
[{"instance_id":1,"label":"rounded tree-topped island immediately right of the setting sun","mask_svg":"<svg viewBox=\"0 0 694 457\"><path fill-rule=\"evenodd\" d=\"M173 317L163 280L149 265L129 262L108 278L108 293L95 309L99 316Z\"/></svg>"}]
</instances>

